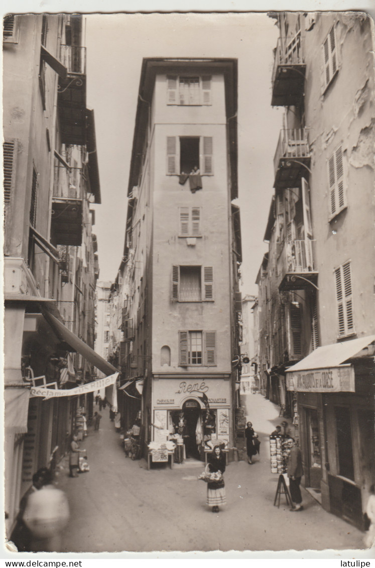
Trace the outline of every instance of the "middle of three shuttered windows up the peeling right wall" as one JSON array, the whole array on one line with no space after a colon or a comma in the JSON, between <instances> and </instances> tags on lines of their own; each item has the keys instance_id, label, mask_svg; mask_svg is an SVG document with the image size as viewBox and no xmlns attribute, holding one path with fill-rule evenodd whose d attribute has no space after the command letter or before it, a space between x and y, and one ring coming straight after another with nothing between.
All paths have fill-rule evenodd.
<instances>
[{"instance_id":1,"label":"middle of three shuttered windows up the peeling right wall","mask_svg":"<svg viewBox=\"0 0 375 568\"><path fill-rule=\"evenodd\" d=\"M338 152L341 153L341 174L338 176ZM332 171L333 168L333 171ZM340 170L339 170L340 171ZM333 182L331 179L333 175ZM328 179L328 223L335 219L341 211L344 211L348 207L347 203L347 173L346 173L346 161L343 144L340 143L336 146L334 152L330 154L327 158L327 179ZM340 183L342 187L340 189ZM332 210L332 197L334 198L335 210ZM340 205L340 201L342 201Z\"/></svg>"}]
</instances>

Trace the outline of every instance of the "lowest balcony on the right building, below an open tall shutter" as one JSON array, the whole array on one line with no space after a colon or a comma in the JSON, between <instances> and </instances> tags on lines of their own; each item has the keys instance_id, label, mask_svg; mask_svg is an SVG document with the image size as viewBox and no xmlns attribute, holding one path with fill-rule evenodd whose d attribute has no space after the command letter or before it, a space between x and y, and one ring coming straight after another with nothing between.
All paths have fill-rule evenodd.
<instances>
[{"instance_id":1,"label":"lowest balcony on the right building, below an open tall shutter","mask_svg":"<svg viewBox=\"0 0 375 568\"><path fill-rule=\"evenodd\" d=\"M318 272L314 270L313 241L294 240L284 244L277 260L279 290L304 290L316 287Z\"/></svg>"}]
</instances>

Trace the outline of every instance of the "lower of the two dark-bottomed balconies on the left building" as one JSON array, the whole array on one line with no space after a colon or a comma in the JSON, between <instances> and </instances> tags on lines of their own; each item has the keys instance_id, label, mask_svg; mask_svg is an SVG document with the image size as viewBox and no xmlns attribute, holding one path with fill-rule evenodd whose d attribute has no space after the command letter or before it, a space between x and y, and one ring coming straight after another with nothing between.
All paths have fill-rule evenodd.
<instances>
[{"instance_id":1,"label":"lower of the two dark-bottomed balconies on the left building","mask_svg":"<svg viewBox=\"0 0 375 568\"><path fill-rule=\"evenodd\" d=\"M82 170L56 165L51 228L57 245L81 246L83 197Z\"/></svg>"}]
</instances>

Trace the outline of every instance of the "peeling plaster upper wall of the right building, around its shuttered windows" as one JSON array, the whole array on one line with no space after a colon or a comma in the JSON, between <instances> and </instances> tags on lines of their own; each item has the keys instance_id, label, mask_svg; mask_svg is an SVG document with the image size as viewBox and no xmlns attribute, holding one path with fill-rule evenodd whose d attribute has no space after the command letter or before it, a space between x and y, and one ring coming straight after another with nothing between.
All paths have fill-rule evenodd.
<instances>
[{"instance_id":1,"label":"peeling plaster upper wall of the right building, around its shuttered windows","mask_svg":"<svg viewBox=\"0 0 375 568\"><path fill-rule=\"evenodd\" d=\"M322 89L322 45L335 25L339 70ZM353 308L358 336L374 333L374 56L364 14L320 14L306 32L305 120L312 150L311 214L319 271L322 345L338 339L334 269L352 263ZM327 160L342 145L347 208L329 221Z\"/></svg>"}]
</instances>

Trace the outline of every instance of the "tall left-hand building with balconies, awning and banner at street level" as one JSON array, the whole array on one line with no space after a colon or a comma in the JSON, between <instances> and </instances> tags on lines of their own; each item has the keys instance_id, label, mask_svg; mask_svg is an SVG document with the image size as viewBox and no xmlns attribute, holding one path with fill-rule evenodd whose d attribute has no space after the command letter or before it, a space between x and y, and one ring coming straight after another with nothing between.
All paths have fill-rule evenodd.
<instances>
[{"instance_id":1,"label":"tall left-hand building with balconies, awning and banner at street level","mask_svg":"<svg viewBox=\"0 0 375 568\"><path fill-rule=\"evenodd\" d=\"M101 192L83 35L80 15L4 19L8 537L32 475L64 456L82 409L92 415L96 369L116 371L93 350L99 269L91 203ZM73 387L81 388L65 396Z\"/></svg>"}]
</instances>

